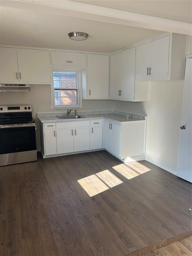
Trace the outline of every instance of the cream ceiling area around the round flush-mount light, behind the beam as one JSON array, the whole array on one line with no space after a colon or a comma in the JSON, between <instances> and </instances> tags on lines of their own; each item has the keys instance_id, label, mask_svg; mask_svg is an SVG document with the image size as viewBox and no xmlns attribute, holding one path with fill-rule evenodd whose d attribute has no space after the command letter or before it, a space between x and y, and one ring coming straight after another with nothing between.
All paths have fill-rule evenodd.
<instances>
[{"instance_id":1,"label":"cream ceiling area around the round flush-mount light, behind the beam","mask_svg":"<svg viewBox=\"0 0 192 256\"><path fill-rule=\"evenodd\" d=\"M115 1L117 2L117 1ZM89 34L73 41L72 31ZM0 44L111 53L163 34L162 31L37 11L0 7Z\"/></svg>"}]
</instances>

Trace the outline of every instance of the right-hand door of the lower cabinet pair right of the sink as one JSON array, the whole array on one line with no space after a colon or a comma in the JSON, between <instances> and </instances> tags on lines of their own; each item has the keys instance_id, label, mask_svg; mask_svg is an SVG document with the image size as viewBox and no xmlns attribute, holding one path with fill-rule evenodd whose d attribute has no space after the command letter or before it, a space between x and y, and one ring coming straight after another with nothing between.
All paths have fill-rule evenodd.
<instances>
[{"instance_id":1,"label":"right-hand door of the lower cabinet pair right of the sink","mask_svg":"<svg viewBox=\"0 0 192 256\"><path fill-rule=\"evenodd\" d=\"M121 138L121 126L111 124L111 152L120 156L120 138Z\"/></svg>"}]
</instances>

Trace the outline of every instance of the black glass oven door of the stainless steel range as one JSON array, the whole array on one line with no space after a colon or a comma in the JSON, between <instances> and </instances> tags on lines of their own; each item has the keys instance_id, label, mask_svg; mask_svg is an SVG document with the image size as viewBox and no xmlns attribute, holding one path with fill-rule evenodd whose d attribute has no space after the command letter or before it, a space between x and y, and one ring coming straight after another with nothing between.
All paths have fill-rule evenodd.
<instances>
[{"instance_id":1,"label":"black glass oven door of the stainless steel range","mask_svg":"<svg viewBox=\"0 0 192 256\"><path fill-rule=\"evenodd\" d=\"M0 154L36 150L35 123L0 125Z\"/></svg>"}]
</instances>

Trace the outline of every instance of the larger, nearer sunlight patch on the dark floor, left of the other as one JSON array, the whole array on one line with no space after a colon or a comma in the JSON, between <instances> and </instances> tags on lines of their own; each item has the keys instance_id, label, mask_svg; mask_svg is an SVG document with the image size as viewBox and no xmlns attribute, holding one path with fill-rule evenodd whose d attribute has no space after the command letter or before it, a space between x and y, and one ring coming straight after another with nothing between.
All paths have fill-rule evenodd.
<instances>
[{"instance_id":1,"label":"larger, nearer sunlight patch on the dark floor, left of the other","mask_svg":"<svg viewBox=\"0 0 192 256\"><path fill-rule=\"evenodd\" d=\"M123 181L117 178L109 170L104 170L102 172L90 175L78 180L77 182L90 197L123 183Z\"/></svg>"}]
</instances>

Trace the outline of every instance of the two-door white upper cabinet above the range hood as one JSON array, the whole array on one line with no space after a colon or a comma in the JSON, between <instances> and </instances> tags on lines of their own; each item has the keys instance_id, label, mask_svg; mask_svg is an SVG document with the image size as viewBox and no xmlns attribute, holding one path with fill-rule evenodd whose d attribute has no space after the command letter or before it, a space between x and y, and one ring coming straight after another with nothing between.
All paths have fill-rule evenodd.
<instances>
[{"instance_id":1,"label":"two-door white upper cabinet above the range hood","mask_svg":"<svg viewBox=\"0 0 192 256\"><path fill-rule=\"evenodd\" d=\"M49 51L0 47L0 83L50 84Z\"/></svg>"}]
</instances>

